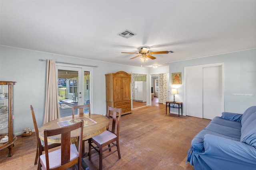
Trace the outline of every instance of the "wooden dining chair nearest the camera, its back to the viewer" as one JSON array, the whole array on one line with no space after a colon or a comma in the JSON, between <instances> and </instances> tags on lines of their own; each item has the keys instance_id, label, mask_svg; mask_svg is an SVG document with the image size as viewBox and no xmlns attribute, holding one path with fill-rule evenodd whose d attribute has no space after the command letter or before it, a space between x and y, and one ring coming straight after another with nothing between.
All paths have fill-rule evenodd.
<instances>
[{"instance_id":1,"label":"wooden dining chair nearest the camera, its back to the viewer","mask_svg":"<svg viewBox=\"0 0 256 170\"><path fill-rule=\"evenodd\" d=\"M80 129L78 150L75 144L71 144L71 131ZM42 170L64 170L77 164L78 170L82 170L82 137L84 120L73 125L56 129L44 129L44 141L47 143L48 137L61 135L61 149L49 152L48 145L45 145L45 154L40 156Z\"/></svg>"}]
</instances>

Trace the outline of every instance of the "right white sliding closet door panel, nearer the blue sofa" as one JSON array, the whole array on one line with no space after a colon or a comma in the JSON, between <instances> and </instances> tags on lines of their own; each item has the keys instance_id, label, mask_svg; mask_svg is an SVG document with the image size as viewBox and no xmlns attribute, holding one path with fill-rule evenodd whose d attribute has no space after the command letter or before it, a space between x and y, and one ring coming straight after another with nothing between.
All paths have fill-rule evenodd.
<instances>
[{"instance_id":1,"label":"right white sliding closet door panel, nearer the blue sofa","mask_svg":"<svg viewBox=\"0 0 256 170\"><path fill-rule=\"evenodd\" d=\"M221 66L203 68L203 118L213 119L222 113Z\"/></svg>"}]
</instances>

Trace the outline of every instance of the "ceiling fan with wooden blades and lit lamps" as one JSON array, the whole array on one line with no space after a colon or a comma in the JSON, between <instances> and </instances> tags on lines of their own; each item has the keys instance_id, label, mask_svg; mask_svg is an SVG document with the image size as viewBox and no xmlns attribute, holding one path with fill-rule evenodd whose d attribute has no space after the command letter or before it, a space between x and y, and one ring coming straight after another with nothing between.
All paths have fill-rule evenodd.
<instances>
[{"instance_id":1,"label":"ceiling fan with wooden blades and lit lamps","mask_svg":"<svg viewBox=\"0 0 256 170\"><path fill-rule=\"evenodd\" d=\"M128 52L121 52L121 53L128 53ZM152 60L156 59L156 57L152 56L152 54L168 54L168 53L173 53L173 51L155 51L155 52L151 51L150 52L149 48L141 47L141 49L139 50L138 53L128 53L128 54L139 54L139 55L137 55L135 57L132 57L130 59L135 59L136 57L142 56L140 58L140 61L144 62L144 61L148 61L148 58L152 59Z\"/></svg>"}]
</instances>

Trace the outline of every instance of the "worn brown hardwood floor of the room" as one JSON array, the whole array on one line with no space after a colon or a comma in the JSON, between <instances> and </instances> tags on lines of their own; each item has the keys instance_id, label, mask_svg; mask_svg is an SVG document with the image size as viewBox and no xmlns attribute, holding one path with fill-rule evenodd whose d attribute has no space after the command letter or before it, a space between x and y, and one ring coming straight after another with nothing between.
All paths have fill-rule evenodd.
<instances>
[{"instance_id":1,"label":"worn brown hardwood floor of the room","mask_svg":"<svg viewBox=\"0 0 256 170\"><path fill-rule=\"evenodd\" d=\"M156 103L155 103L156 104ZM157 103L158 104L158 103ZM156 105L157 105L156 104ZM165 114L165 105L144 106L122 115L120 126L120 152L103 159L104 170L193 170L186 157L193 137L208 125L210 120L196 117ZM85 146L88 148L88 144ZM8 149L0 150L1 170L36 170L36 138L18 136L13 156ZM92 160L84 158L90 170L99 167L98 154Z\"/></svg>"}]
</instances>

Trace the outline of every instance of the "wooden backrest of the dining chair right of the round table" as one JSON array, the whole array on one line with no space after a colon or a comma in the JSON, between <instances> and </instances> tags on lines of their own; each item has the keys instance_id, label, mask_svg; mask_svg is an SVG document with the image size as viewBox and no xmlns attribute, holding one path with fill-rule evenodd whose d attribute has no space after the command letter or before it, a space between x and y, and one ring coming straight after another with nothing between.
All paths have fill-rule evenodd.
<instances>
[{"instance_id":1,"label":"wooden backrest of the dining chair right of the round table","mask_svg":"<svg viewBox=\"0 0 256 170\"><path fill-rule=\"evenodd\" d=\"M115 108L115 107L108 106L108 113L106 115L108 118L109 118L109 115L110 115L110 111L112 111L112 113L113 113L111 131L112 131L112 133L115 133L118 137L119 136L119 127L120 127L120 118L121 118L122 109L118 109L118 108ZM116 119L117 113L118 113L118 119ZM116 124L117 124L117 130L116 130Z\"/></svg>"}]
</instances>

